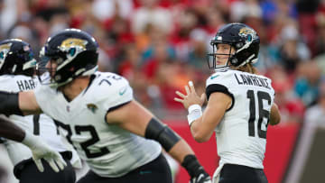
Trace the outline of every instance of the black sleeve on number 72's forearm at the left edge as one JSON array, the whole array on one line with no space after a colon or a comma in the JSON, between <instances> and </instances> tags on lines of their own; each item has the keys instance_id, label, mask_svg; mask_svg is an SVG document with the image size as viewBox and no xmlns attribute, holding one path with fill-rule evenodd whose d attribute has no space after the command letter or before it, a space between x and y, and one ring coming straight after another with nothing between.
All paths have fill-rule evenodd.
<instances>
[{"instance_id":1,"label":"black sleeve on number 72's forearm at the left edge","mask_svg":"<svg viewBox=\"0 0 325 183\"><path fill-rule=\"evenodd\" d=\"M23 115L22 110L19 108L18 93L9 93L0 91L0 114Z\"/></svg>"}]
</instances>

